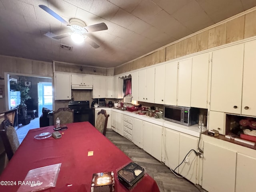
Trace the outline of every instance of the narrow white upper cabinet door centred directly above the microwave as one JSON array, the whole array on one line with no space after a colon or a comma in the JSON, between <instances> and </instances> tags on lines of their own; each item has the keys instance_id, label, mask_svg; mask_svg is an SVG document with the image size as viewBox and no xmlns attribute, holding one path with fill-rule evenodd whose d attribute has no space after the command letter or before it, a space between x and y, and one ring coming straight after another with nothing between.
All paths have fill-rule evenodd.
<instances>
[{"instance_id":1,"label":"narrow white upper cabinet door centred directly above the microwave","mask_svg":"<svg viewBox=\"0 0 256 192\"><path fill-rule=\"evenodd\" d=\"M181 60L178 69L178 106L190 107L192 58Z\"/></svg>"}]
</instances>

